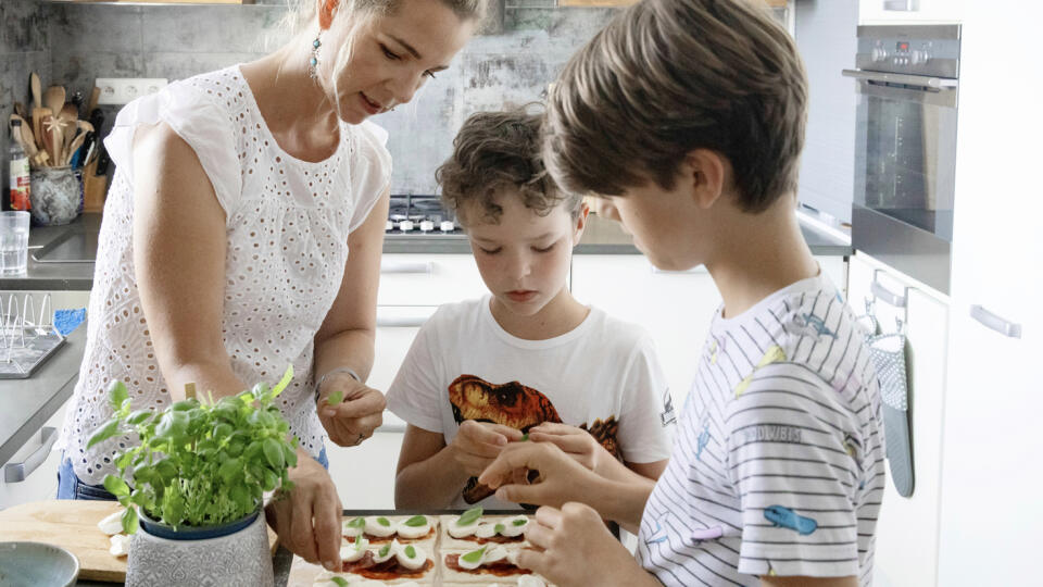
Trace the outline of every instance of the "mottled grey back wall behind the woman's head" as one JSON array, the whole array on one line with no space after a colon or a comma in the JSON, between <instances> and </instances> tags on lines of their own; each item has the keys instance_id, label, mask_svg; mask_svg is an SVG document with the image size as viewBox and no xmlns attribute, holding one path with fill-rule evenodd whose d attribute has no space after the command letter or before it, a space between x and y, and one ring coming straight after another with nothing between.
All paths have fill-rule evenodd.
<instances>
[{"instance_id":1,"label":"mottled grey back wall behind the woman's head","mask_svg":"<svg viewBox=\"0 0 1043 587\"><path fill-rule=\"evenodd\" d=\"M288 38L279 5L58 3L49 10L51 66L71 91L89 89L96 77L185 78L256 59ZM463 120L477 110L539 100L568 57L614 12L506 10L500 33L476 36L410 105L375 118L391 135L392 189L433 192L435 167L448 157ZM116 109L105 111L111 124Z\"/></svg>"}]
</instances>

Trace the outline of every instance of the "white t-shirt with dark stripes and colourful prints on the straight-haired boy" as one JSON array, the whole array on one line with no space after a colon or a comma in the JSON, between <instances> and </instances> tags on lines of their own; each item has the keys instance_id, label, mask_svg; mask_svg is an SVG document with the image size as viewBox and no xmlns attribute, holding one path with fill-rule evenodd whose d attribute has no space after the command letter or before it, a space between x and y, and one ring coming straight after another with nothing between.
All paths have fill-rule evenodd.
<instances>
[{"instance_id":1,"label":"white t-shirt with dark stripes and colourful prints on the straight-haired boy","mask_svg":"<svg viewBox=\"0 0 1043 587\"><path fill-rule=\"evenodd\" d=\"M865 333L825 277L720 310L638 557L664 585L871 583L883 421Z\"/></svg>"}]
</instances>

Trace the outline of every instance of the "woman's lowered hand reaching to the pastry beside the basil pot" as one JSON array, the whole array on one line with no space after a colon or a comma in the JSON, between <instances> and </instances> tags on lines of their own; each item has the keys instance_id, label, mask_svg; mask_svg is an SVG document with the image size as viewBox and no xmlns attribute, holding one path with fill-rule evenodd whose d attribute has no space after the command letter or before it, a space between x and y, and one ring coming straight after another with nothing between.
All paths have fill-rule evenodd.
<instances>
[{"instance_id":1,"label":"woman's lowered hand reaching to the pastry beside the basil pot","mask_svg":"<svg viewBox=\"0 0 1043 587\"><path fill-rule=\"evenodd\" d=\"M297 466L289 470L289 478L293 488L277 494L265 508L268 524L294 554L339 571L342 508L329 473L298 449Z\"/></svg>"}]
</instances>

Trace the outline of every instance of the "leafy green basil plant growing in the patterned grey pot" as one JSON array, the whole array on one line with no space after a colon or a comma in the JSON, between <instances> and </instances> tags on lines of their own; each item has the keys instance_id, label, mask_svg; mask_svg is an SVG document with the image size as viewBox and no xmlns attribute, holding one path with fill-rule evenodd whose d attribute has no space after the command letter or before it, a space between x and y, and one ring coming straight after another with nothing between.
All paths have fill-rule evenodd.
<instances>
[{"instance_id":1,"label":"leafy green basil plant growing in the patterned grey pot","mask_svg":"<svg viewBox=\"0 0 1043 587\"><path fill-rule=\"evenodd\" d=\"M189 398L158 412L130 411L126 386L114 382L109 401L115 414L87 448L114 436L139 439L116 455L120 475L104 480L126 508L124 532L137 529L135 505L175 529L217 526L254 512L264 491L289 490L287 470L297 465L298 440L289 438L274 400L292 377L290 366L274 388L257 384L238 396Z\"/></svg>"}]
</instances>

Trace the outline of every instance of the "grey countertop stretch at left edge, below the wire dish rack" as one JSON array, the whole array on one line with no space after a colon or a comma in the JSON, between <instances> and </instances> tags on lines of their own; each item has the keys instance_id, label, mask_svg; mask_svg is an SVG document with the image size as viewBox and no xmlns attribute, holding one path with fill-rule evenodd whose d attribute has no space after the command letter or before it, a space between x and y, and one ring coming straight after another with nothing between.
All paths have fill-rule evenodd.
<instances>
[{"instance_id":1,"label":"grey countertop stretch at left edge, below the wire dish rack","mask_svg":"<svg viewBox=\"0 0 1043 587\"><path fill-rule=\"evenodd\" d=\"M86 338L84 324L28 379L0 379L0 463L11 460L39 434L48 419L72 397Z\"/></svg>"}]
</instances>

